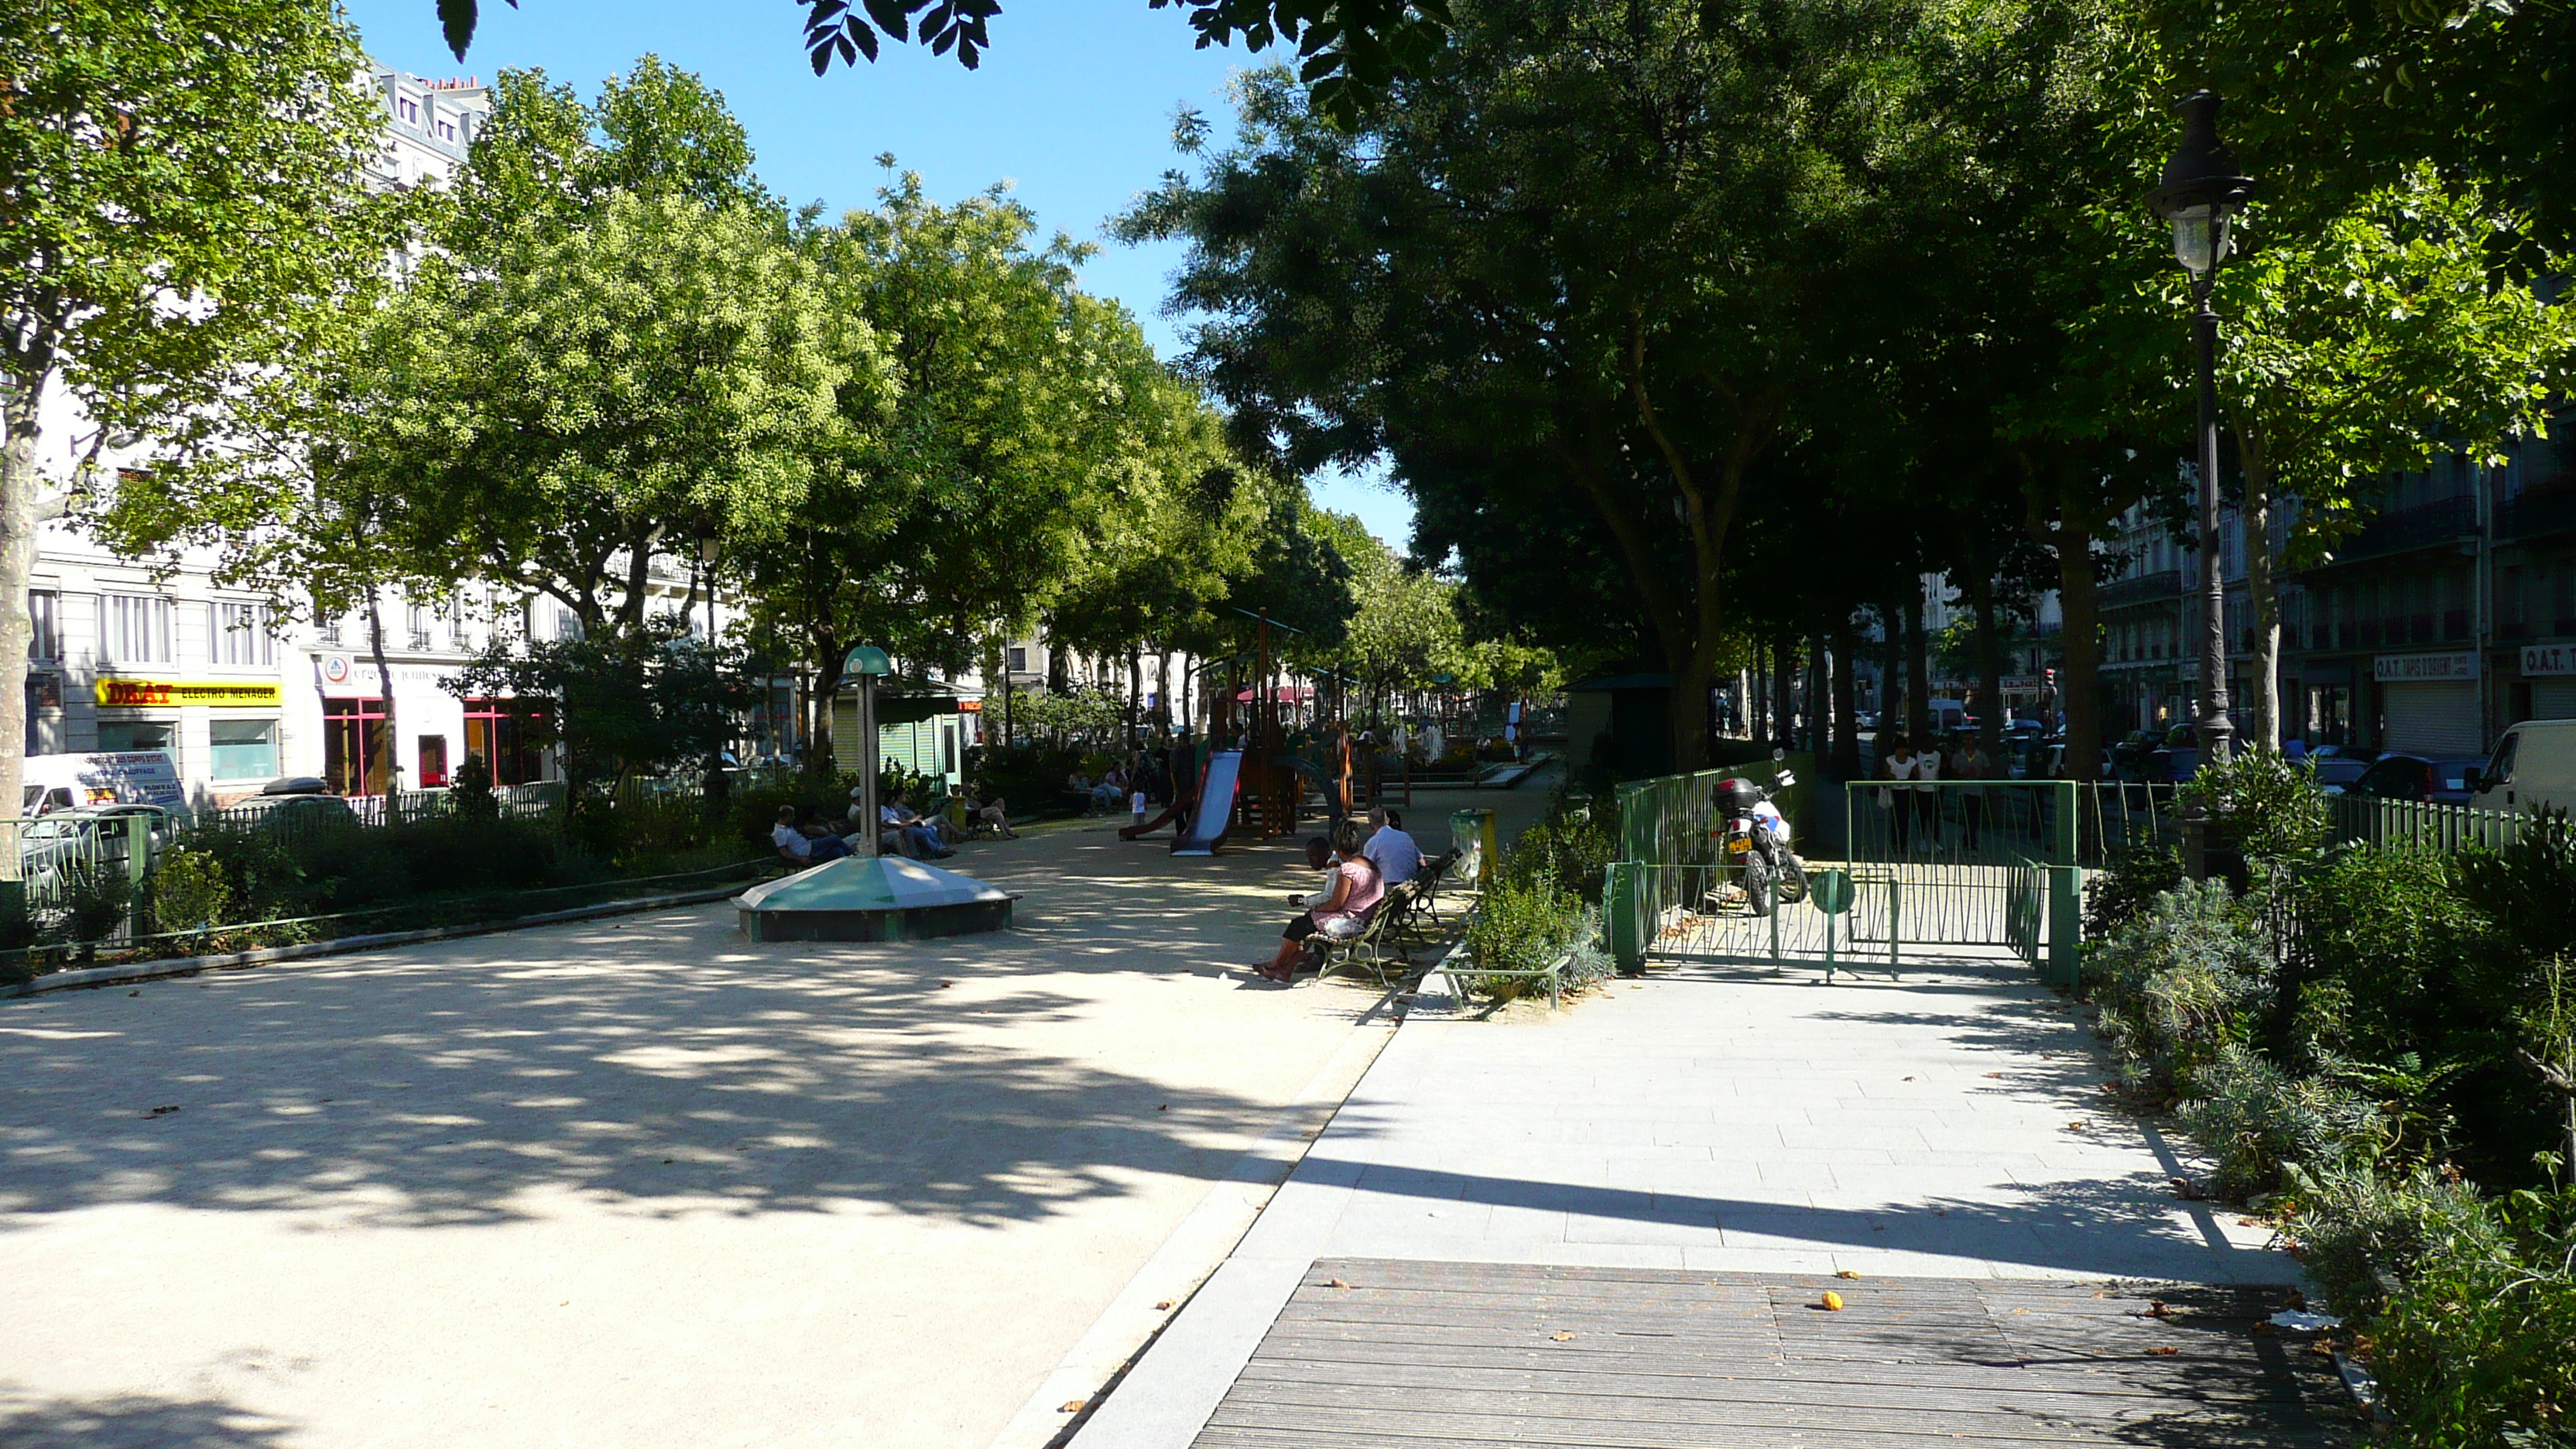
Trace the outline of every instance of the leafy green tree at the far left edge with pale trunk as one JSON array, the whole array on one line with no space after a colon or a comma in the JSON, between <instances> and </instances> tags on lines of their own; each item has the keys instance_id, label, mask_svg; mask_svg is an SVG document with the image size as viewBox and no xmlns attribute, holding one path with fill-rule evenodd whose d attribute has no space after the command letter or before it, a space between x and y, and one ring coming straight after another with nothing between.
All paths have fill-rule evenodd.
<instances>
[{"instance_id":1,"label":"leafy green tree at the far left edge with pale trunk","mask_svg":"<svg viewBox=\"0 0 2576 1449\"><path fill-rule=\"evenodd\" d=\"M355 31L317 0L0 15L0 799L18 799L26 745L46 402L95 428L85 462L118 433L188 428L381 266L358 206L379 119L363 72Z\"/></svg>"}]
</instances>

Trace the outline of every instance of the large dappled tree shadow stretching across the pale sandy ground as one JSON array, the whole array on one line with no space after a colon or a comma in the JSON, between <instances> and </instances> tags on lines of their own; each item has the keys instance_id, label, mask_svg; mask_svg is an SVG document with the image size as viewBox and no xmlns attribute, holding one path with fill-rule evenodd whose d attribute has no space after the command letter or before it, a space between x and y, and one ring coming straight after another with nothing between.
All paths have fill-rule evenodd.
<instances>
[{"instance_id":1,"label":"large dappled tree shadow stretching across the pale sandy ground","mask_svg":"<svg viewBox=\"0 0 2576 1449\"><path fill-rule=\"evenodd\" d=\"M10 1006L0 1212L451 1225L574 1194L1002 1225L1141 1173L1221 1178L1278 1101L1206 1085L1224 1057L1164 1039L1154 993L1224 993L1206 977L1285 915L1252 908L1278 859L1172 882L1113 835L1028 846L987 861L1036 918L997 936L755 946L714 905ZM1110 1049L1079 990L1105 972L1146 977ZM1247 995L1244 1029L1373 1000ZM1164 1070L1185 1049L1195 1078Z\"/></svg>"}]
</instances>

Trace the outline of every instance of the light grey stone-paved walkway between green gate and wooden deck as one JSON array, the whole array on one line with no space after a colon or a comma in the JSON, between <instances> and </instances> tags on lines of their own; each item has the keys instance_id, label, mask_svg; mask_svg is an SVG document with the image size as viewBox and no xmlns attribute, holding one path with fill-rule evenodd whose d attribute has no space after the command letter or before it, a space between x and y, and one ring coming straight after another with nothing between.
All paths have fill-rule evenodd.
<instances>
[{"instance_id":1,"label":"light grey stone-paved walkway between green gate and wooden deck","mask_svg":"<svg viewBox=\"0 0 2576 1449\"><path fill-rule=\"evenodd\" d=\"M1208 1423L1319 1261L2295 1281L2264 1230L2172 1196L2187 1163L2105 1111L2105 1075L2014 959L1909 957L1901 982L1832 987L1659 969L1553 1018L1414 1016L1074 1444L1273 1441ZM1515 1413L1468 1439L1561 1441ZM1337 1423L1350 1434L1275 1441L1378 1441Z\"/></svg>"}]
</instances>

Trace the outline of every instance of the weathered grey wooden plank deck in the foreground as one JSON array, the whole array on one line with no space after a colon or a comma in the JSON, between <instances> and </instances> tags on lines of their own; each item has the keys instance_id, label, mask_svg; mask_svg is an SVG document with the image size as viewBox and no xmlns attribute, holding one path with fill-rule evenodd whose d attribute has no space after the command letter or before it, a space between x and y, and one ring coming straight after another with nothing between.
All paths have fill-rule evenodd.
<instances>
[{"instance_id":1,"label":"weathered grey wooden plank deck in the foreground","mask_svg":"<svg viewBox=\"0 0 2576 1449\"><path fill-rule=\"evenodd\" d=\"M1329 1258L1195 1444L2347 1444L2285 1292Z\"/></svg>"}]
</instances>

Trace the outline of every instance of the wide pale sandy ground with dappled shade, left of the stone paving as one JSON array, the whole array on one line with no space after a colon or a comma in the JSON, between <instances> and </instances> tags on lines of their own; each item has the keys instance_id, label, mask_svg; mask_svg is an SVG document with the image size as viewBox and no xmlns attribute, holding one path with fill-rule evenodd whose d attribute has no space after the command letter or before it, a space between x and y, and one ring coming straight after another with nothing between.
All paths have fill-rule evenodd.
<instances>
[{"instance_id":1,"label":"wide pale sandy ground with dappled shade, left of the stone paving","mask_svg":"<svg viewBox=\"0 0 2576 1449\"><path fill-rule=\"evenodd\" d=\"M0 1006L0 1441L984 1449L1388 1024L1239 972L1285 843L953 864L1023 928L696 908Z\"/></svg>"}]
</instances>

